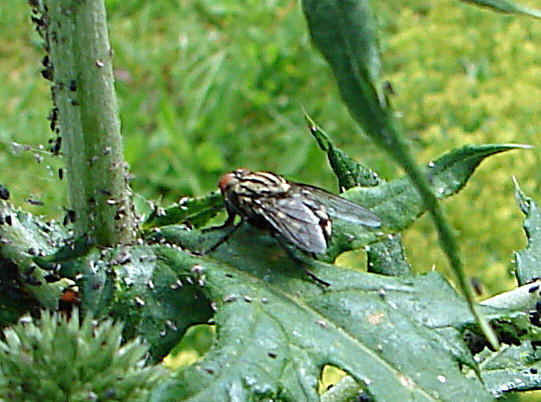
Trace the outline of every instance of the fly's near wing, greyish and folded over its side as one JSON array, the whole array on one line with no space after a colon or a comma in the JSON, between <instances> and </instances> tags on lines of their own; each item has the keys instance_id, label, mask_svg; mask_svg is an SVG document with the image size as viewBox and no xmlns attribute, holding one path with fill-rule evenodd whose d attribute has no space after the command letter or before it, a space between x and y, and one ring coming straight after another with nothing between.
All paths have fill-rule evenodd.
<instances>
[{"instance_id":1,"label":"fly's near wing, greyish and folded over its side","mask_svg":"<svg viewBox=\"0 0 541 402\"><path fill-rule=\"evenodd\" d=\"M325 211L318 211L308 202L303 202L302 197L263 198L257 202L257 213L299 249L324 253L331 221Z\"/></svg>"}]
</instances>

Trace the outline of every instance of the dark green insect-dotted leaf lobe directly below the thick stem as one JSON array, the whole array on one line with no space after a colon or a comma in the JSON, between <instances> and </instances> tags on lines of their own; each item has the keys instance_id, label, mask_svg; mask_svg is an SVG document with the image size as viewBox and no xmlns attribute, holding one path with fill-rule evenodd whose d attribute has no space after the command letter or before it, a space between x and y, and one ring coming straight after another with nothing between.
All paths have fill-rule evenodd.
<instances>
[{"instance_id":1,"label":"dark green insect-dotted leaf lobe directly below the thick stem","mask_svg":"<svg viewBox=\"0 0 541 402\"><path fill-rule=\"evenodd\" d=\"M82 307L121 319L123 336L141 336L153 360L169 353L188 327L212 316L192 275L177 275L150 246L94 252L69 267L78 273Z\"/></svg>"}]
</instances>

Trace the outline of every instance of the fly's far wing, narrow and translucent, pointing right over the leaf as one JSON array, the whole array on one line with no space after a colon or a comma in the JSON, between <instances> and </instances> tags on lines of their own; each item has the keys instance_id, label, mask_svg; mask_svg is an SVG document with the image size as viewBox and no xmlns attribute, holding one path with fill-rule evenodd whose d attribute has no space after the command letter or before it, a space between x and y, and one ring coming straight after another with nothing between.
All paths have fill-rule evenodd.
<instances>
[{"instance_id":1,"label":"fly's far wing, narrow and translucent, pointing right over the leaf","mask_svg":"<svg viewBox=\"0 0 541 402\"><path fill-rule=\"evenodd\" d=\"M303 194L323 204L327 213L334 218L371 228L381 226L381 220L376 214L354 202L329 193L321 188L306 184L298 184L298 186L305 187L302 190Z\"/></svg>"}]
</instances>

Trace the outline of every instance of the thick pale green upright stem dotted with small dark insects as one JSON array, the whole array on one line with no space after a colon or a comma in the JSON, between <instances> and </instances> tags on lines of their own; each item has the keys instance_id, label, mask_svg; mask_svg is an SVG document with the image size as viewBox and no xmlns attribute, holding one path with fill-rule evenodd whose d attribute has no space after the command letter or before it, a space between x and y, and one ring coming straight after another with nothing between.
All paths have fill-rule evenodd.
<instances>
[{"instance_id":1,"label":"thick pale green upright stem dotted with small dark insects","mask_svg":"<svg viewBox=\"0 0 541 402\"><path fill-rule=\"evenodd\" d=\"M132 243L135 215L122 156L103 0L48 0L47 32L75 233Z\"/></svg>"}]
</instances>

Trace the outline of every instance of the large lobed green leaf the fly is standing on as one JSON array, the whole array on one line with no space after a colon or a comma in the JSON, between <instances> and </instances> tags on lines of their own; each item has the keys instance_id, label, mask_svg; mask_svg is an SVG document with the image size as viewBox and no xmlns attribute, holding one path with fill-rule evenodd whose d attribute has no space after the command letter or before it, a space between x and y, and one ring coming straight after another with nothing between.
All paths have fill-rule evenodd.
<instances>
[{"instance_id":1,"label":"large lobed green leaf the fly is standing on","mask_svg":"<svg viewBox=\"0 0 541 402\"><path fill-rule=\"evenodd\" d=\"M179 247L205 247L220 235L170 225L155 233L158 244L105 250L80 264L88 267L83 276L90 268L108 273L111 313L127 321L125 334L148 339L155 356L188 325L207 321L210 302L217 309L212 350L161 384L154 400L315 399L325 364L346 370L376 399L488 400L459 369L476 365L460 336L474 318L439 274L384 277L314 262L315 274L331 283L322 289L250 226L210 256ZM100 287L80 287L84 305L101 297ZM522 312L485 313L507 332L527 322Z\"/></svg>"}]
</instances>

